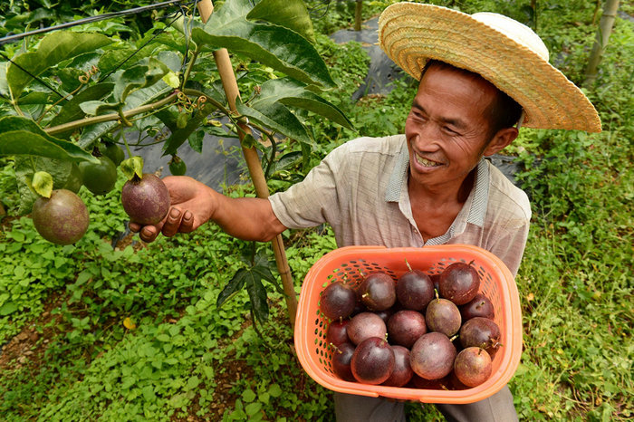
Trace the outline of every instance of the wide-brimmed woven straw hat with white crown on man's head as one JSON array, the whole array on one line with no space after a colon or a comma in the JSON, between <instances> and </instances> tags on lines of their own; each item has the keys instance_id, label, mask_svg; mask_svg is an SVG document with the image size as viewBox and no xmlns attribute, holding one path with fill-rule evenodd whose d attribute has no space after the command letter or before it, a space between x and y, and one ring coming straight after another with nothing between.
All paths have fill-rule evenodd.
<instances>
[{"instance_id":1,"label":"wide-brimmed woven straw hat with white crown on man's head","mask_svg":"<svg viewBox=\"0 0 634 422\"><path fill-rule=\"evenodd\" d=\"M540 37L503 14L397 3L379 17L379 45L417 80L427 59L479 73L524 108L528 128L601 130L597 110L548 62Z\"/></svg>"}]
</instances>

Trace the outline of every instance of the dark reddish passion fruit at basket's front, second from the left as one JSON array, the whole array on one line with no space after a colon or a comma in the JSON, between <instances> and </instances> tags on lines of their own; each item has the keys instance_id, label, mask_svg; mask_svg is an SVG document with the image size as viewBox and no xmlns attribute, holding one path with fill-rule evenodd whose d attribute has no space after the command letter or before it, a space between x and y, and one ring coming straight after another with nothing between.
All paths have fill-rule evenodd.
<instances>
[{"instance_id":1,"label":"dark reddish passion fruit at basket's front, second from the left","mask_svg":"<svg viewBox=\"0 0 634 422\"><path fill-rule=\"evenodd\" d=\"M352 375L363 384L380 384L394 369L394 352L388 341L370 337L360 342L351 360Z\"/></svg>"}]
</instances>

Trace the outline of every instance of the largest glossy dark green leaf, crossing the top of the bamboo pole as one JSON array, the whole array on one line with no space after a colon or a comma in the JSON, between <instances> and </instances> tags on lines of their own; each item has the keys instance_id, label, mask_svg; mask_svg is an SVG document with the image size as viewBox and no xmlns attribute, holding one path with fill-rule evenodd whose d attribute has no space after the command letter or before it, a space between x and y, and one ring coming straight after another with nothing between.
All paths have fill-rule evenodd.
<instances>
[{"instance_id":1,"label":"largest glossy dark green leaf, crossing the top of the bamboo pole","mask_svg":"<svg viewBox=\"0 0 634 422\"><path fill-rule=\"evenodd\" d=\"M249 0L227 1L204 27L192 29L194 41L244 54L298 81L335 86L312 43L283 26L248 21L251 9Z\"/></svg>"}]
</instances>

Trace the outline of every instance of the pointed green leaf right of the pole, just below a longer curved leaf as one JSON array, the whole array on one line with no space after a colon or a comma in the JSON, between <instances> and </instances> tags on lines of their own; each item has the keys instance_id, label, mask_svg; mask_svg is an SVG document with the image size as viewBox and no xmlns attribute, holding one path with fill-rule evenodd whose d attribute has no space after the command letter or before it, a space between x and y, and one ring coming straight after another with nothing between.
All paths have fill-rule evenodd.
<instances>
[{"instance_id":1,"label":"pointed green leaf right of the pole, just below a longer curved leaf","mask_svg":"<svg viewBox=\"0 0 634 422\"><path fill-rule=\"evenodd\" d=\"M245 104L237 104L235 107L240 114L255 120L256 123L274 129L291 139L312 144L312 140L300 120L279 102L269 105L257 104L258 109L248 107Z\"/></svg>"}]
</instances>

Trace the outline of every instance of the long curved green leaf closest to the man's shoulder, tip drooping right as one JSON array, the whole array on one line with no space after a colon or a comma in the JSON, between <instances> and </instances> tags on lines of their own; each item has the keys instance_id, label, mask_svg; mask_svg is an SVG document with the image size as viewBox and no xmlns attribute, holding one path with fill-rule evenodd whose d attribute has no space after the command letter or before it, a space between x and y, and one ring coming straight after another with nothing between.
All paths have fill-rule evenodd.
<instances>
[{"instance_id":1,"label":"long curved green leaf closest to the man's shoulder, tip drooping right","mask_svg":"<svg viewBox=\"0 0 634 422\"><path fill-rule=\"evenodd\" d=\"M319 95L306 89L306 85L291 78L272 79L262 84L262 91L251 102L251 107L259 110L260 107L272 104L275 101L299 109L310 110L341 126L352 129L352 123L337 106L324 100Z\"/></svg>"}]
</instances>

